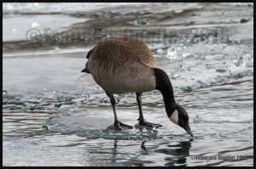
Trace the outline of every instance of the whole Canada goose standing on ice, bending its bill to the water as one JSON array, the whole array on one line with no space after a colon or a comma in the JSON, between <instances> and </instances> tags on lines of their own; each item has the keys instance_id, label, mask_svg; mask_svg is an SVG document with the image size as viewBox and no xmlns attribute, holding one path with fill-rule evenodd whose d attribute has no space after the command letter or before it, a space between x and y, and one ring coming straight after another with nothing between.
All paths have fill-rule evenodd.
<instances>
[{"instance_id":1,"label":"whole Canada goose standing on ice, bending its bill to the water","mask_svg":"<svg viewBox=\"0 0 256 169\"><path fill-rule=\"evenodd\" d=\"M164 70L156 68L154 56L147 45L137 38L109 38L98 42L87 54L82 72L90 73L110 98L114 123L108 128L122 130L133 128L118 120L114 93L136 93L139 118L136 127L162 127L143 118L142 93L160 90L166 106L166 114L172 122L183 127L192 137L189 115L175 102L172 83Z\"/></svg>"}]
</instances>

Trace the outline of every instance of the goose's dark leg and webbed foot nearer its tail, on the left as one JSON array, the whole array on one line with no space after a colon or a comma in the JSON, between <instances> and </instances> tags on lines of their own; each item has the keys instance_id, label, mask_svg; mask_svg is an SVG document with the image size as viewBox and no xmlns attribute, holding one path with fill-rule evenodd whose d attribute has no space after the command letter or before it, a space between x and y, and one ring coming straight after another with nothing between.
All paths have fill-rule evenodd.
<instances>
[{"instance_id":1,"label":"goose's dark leg and webbed foot nearer its tail, on the left","mask_svg":"<svg viewBox=\"0 0 256 169\"><path fill-rule=\"evenodd\" d=\"M113 94L108 94L108 97L110 98L110 102L113 108L113 115L114 115L114 122L113 125L107 127L107 129L113 129L113 130L122 130L122 129L132 129L133 127L128 126L122 122L120 122L117 118L116 112L115 112L115 99L113 98Z\"/></svg>"}]
</instances>

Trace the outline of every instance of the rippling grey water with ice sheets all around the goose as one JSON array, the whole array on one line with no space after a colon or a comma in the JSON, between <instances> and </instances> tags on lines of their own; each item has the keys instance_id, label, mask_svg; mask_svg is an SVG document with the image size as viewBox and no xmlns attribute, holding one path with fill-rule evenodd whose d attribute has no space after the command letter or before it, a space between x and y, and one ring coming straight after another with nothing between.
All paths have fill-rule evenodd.
<instances>
[{"instance_id":1,"label":"rippling grey water with ice sheets all around the goose","mask_svg":"<svg viewBox=\"0 0 256 169\"><path fill-rule=\"evenodd\" d=\"M106 130L108 96L80 71L119 36L147 42L194 138L156 90L143 114L163 127ZM135 93L115 99L137 124ZM3 166L253 166L253 3L3 3Z\"/></svg>"}]
</instances>

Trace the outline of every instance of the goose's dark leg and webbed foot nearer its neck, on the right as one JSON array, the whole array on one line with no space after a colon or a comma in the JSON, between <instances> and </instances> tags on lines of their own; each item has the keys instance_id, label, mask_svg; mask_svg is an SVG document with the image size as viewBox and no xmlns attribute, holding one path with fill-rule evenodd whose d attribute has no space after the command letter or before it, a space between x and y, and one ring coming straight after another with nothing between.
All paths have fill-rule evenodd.
<instances>
[{"instance_id":1,"label":"goose's dark leg and webbed foot nearer its neck, on the right","mask_svg":"<svg viewBox=\"0 0 256 169\"><path fill-rule=\"evenodd\" d=\"M143 117L143 109L142 109L142 94L143 93L136 93L136 99L137 99L137 104L139 107L139 118L137 125L135 125L135 127L162 127L162 125L160 124L154 124L148 121L145 121L144 117Z\"/></svg>"}]
</instances>

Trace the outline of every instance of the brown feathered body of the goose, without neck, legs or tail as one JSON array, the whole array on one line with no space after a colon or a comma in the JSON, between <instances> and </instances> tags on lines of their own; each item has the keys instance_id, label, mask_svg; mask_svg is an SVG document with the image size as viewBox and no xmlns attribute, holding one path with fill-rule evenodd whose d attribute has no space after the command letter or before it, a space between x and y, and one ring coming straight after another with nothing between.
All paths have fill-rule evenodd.
<instances>
[{"instance_id":1,"label":"brown feathered body of the goose, without neck, legs or tail","mask_svg":"<svg viewBox=\"0 0 256 169\"><path fill-rule=\"evenodd\" d=\"M90 50L87 59L87 70L106 93L143 93L155 88L154 56L136 38L103 40Z\"/></svg>"}]
</instances>

